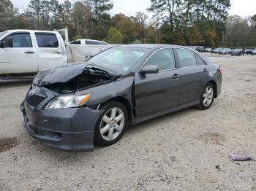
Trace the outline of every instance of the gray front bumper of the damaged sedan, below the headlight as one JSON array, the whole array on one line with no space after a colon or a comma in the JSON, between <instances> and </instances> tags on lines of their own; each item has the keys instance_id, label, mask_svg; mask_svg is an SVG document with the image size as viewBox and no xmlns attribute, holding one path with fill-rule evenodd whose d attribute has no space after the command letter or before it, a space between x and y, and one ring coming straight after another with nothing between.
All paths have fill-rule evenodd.
<instances>
[{"instance_id":1,"label":"gray front bumper of the damaged sedan, below the headlight","mask_svg":"<svg viewBox=\"0 0 256 191\"><path fill-rule=\"evenodd\" d=\"M94 127L101 110L83 107L37 111L24 101L20 111L29 135L43 144L72 152L94 150Z\"/></svg>"}]
</instances>

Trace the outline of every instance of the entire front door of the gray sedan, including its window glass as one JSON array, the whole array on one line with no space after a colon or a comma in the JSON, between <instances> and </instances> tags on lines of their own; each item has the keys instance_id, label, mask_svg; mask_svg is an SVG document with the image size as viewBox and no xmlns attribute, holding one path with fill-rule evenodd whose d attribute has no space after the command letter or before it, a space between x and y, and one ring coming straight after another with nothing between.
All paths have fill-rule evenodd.
<instances>
[{"instance_id":1,"label":"entire front door of the gray sedan, including its window glass","mask_svg":"<svg viewBox=\"0 0 256 191\"><path fill-rule=\"evenodd\" d=\"M178 106L181 78L173 49L155 51L143 67L149 65L158 66L159 73L135 75L136 117Z\"/></svg>"}]
</instances>

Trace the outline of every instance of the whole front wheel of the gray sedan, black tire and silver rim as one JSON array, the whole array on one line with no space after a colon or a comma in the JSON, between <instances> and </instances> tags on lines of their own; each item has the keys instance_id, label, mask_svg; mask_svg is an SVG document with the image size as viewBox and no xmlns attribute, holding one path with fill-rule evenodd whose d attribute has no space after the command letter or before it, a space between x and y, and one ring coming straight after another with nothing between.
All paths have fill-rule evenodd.
<instances>
[{"instance_id":1,"label":"whole front wheel of the gray sedan, black tire and silver rim","mask_svg":"<svg viewBox=\"0 0 256 191\"><path fill-rule=\"evenodd\" d=\"M108 147L124 135L128 125L128 112L126 107L118 101L111 101L102 109L104 112L94 129L94 143L101 147Z\"/></svg>"}]
</instances>

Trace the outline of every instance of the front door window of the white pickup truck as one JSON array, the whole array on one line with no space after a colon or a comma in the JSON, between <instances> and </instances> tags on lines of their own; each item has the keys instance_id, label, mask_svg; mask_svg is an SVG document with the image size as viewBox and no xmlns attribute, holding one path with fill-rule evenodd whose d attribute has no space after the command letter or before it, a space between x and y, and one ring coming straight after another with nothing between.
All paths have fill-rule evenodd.
<instances>
[{"instance_id":1,"label":"front door window of the white pickup truck","mask_svg":"<svg viewBox=\"0 0 256 191\"><path fill-rule=\"evenodd\" d=\"M30 34L12 34L8 36L12 38L13 47L33 47Z\"/></svg>"}]
</instances>

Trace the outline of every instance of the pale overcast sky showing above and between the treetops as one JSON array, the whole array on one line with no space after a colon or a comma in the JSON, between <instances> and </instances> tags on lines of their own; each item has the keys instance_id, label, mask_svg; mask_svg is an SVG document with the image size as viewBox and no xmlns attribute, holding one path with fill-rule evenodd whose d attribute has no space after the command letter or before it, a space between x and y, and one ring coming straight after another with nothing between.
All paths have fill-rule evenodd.
<instances>
[{"instance_id":1,"label":"pale overcast sky showing above and between the treetops","mask_svg":"<svg viewBox=\"0 0 256 191\"><path fill-rule=\"evenodd\" d=\"M11 0L15 7L20 9L20 12L26 10L30 0ZM64 0L59 0L62 2ZM70 0L75 1L75 0ZM125 15L135 15L136 12L146 12L146 9L150 6L151 0L113 0L114 8L110 14L123 12ZM242 17L256 14L256 0L231 0L230 1L230 15L240 15Z\"/></svg>"}]
</instances>

